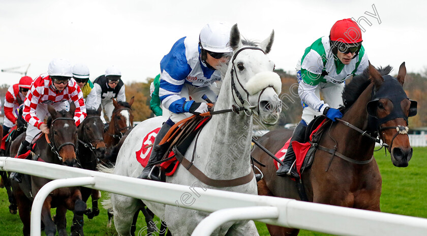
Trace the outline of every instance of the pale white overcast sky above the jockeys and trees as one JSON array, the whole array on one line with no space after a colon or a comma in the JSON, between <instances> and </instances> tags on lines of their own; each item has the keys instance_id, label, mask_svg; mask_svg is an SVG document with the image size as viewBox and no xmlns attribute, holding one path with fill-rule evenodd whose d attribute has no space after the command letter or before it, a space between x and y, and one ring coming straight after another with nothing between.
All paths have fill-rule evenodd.
<instances>
[{"instance_id":1,"label":"pale white overcast sky above the jockeys and trees","mask_svg":"<svg viewBox=\"0 0 427 236\"><path fill-rule=\"evenodd\" d=\"M422 72L426 9L426 1L383 0L0 0L0 69L31 63L27 75L35 78L59 57L86 63L91 80L116 65L125 83L142 82L160 73L160 60L176 40L198 37L210 21L227 21L252 40L274 29L269 57L277 69L294 72L305 48L329 35L335 21L354 18L365 29L372 64L390 64L396 72L405 61L409 72ZM2 72L0 84L20 77Z\"/></svg>"}]
</instances>

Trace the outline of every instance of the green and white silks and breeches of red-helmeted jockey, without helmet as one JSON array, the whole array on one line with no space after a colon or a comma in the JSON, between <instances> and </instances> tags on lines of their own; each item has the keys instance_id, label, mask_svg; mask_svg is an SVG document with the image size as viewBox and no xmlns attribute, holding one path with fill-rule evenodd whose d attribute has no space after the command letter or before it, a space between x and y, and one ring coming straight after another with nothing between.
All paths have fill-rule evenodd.
<instances>
[{"instance_id":1,"label":"green and white silks and breeches of red-helmeted jockey, without helmet","mask_svg":"<svg viewBox=\"0 0 427 236\"><path fill-rule=\"evenodd\" d=\"M316 40L306 49L297 64L298 95L301 98L302 120L309 124L326 107L339 108L345 80L359 75L368 67L368 55L361 46L349 64L343 64L332 53L329 37ZM323 74L322 74L323 73ZM324 100L320 99L320 91Z\"/></svg>"}]
</instances>

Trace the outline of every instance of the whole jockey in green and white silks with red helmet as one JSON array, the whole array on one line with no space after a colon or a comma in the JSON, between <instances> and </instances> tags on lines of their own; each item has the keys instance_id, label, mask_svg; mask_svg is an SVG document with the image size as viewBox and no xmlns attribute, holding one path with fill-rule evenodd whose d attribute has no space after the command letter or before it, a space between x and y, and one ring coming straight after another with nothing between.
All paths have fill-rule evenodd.
<instances>
[{"instance_id":1,"label":"whole jockey in green and white silks with red helmet","mask_svg":"<svg viewBox=\"0 0 427 236\"><path fill-rule=\"evenodd\" d=\"M332 121L341 118L343 114L338 108L343 104L345 80L362 74L368 65L368 55L362 46L362 32L351 19L335 22L329 37L322 37L306 48L296 66L302 117L277 175L299 178L292 141L304 142L306 127L316 116L323 114ZM320 92L324 100L320 99Z\"/></svg>"}]
</instances>

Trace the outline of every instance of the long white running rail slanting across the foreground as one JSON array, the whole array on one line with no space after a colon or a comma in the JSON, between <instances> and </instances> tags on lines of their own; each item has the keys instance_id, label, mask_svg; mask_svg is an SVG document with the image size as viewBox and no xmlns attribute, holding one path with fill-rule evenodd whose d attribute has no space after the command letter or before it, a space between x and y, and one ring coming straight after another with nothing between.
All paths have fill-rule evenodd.
<instances>
[{"instance_id":1,"label":"long white running rail slanting across the foreground","mask_svg":"<svg viewBox=\"0 0 427 236\"><path fill-rule=\"evenodd\" d=\"M180 202L181 207L199 211L216 212L223 209L231 209L219 211L205 218L200 223L201 225L196 228L197 230L200 230L198 229L200 227L202 228L201 231L198 231L201 232L198 236L210 235L209 230L214 230L215 227L224 223L224 220L218 217L224 212L227 214L231 212L232 216L229 216L226 219L227 221L258 219L268 224L337 235L427 235L427 219L423 218L306 203L279 197L249 195L213 189L204 191L197 187L192 188L183 185L141 180L11 157L0 157L0 169L49 179L68 179L63 180L63 182L69 182L69 186L70 184L88 184L86 187L156 201L157 203L176 205L175 202ZM81 182L71 183L70 178L80 178L78 181ZM197 194L195 194L196 192ZM188 201L189 199L192 201ZM38 204L40 204L40 201L38 201ZM36 213L33 212L33 214ZM261 219L263 217L265 219ZM212 222L210 222L211 219ZM203 225L206 225L206 222L210 226L206 226L206 231L202 232ZM40 224L32 224L32 227L37 228L40 233ZM195 234L193 233L193 235Z\"/></svg>"}]
</instances>

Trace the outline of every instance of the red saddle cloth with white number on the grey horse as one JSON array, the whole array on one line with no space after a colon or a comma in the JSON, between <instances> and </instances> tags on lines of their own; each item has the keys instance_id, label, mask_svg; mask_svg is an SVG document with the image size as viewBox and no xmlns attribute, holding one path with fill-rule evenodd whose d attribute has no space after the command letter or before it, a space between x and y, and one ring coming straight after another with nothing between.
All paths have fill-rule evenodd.
<instances>
[{"instance_id":1,"label":"red saddle cloth with white number on the grey horse","mask_svg":"<svg viewBox=\"0 0 427 236\"><path fill-rule=\"evenodd\" d=\"M150 158L151 155L151 151L153 151L153 145L154 144L154 140L156 139L157 133L159 132L160 127L149 132L144 139L142 140L142 146L141 149L139 149L138 151L136 151L136 160L142 165L142 167L145 167L148 163L148 160ZM148 147L149 146L149 147ZM169 157L174 156L175 153L170 152L168 155ZM171 176L173 175L173 173L175 173L176 168L178 167L178 161L176 161L176 158L173 157L163 163L160 164L160 167L162 168L163 171L167 170L168 167L170 165L174 164L174 166L172 167L172 171L167 172L166 176Z\"/></svg>"}]
</instances>

